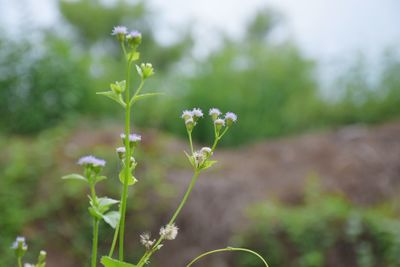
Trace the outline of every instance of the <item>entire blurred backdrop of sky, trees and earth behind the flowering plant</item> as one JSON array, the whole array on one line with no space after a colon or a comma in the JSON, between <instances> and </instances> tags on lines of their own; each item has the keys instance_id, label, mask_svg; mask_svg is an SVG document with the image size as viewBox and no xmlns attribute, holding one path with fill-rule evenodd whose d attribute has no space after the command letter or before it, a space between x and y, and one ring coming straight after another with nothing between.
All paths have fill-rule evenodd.
<instances>
[{"instance_id":1,"label":"entire blurred backdrop of sky, trees and earth behind the flowering plant","mask_svg":"<svg viewBox=\"0 0 400 267\"><path fill-rule=\"evenodd\" d=\"M270 266L400 266L400 3L353 1L0 0L0 265L17 235L48 266L82 266L91 226L79 157L107 160L118 198L120 108L95 94L124 79L113 26L143 34L156 75L133 111L143 142L130 192L128 259L157 235L190 180L180 114L211 107L239 122L151 266L244 246ZM195 131L209 145L211 120ZM112 239L101 228L101 252ZM256 267L243 254L208 267Z\"/></svg>"}]
</instances>

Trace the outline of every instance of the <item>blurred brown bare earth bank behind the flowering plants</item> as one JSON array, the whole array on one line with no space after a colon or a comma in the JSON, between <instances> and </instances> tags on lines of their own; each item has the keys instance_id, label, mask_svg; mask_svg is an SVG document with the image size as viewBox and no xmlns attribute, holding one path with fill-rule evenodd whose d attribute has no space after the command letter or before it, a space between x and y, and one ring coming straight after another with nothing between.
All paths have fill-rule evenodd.
<instances>
[{"instance_id":1,"label":"blurred brown bare earth bank behind the flowering plants","mask_svg":"<svg viewBox=\"0 0 400 267\"><path fill-rule=\"evenodd\" d=\"M85 134L77 134L71 142L90 145L110 142L115 136L113 131L98 133L97 137L88 134L90 142L82 141ZM151 145L153 138L144 137L143 145ZM161 150L182 153L185 148L183 142L174 140ZM375 205L399 196L400 122L355 125L223 149L214 158L218 164L201 174L177 221L178 240L169 242L156 256L162 266L185 266L206 249L226 247L232 233L245 225L246 207L267 199L299 201L310 175L318 176L325 190L344 194L359 205ZM189 168L167 173L167 179L180 188L181 194L190 177ZM171 203L171 209L177 201ZM207 266L227 267L225 260L213 257ZM49 262L49 266L61 265Z\"/></svg>"}]
</instances>

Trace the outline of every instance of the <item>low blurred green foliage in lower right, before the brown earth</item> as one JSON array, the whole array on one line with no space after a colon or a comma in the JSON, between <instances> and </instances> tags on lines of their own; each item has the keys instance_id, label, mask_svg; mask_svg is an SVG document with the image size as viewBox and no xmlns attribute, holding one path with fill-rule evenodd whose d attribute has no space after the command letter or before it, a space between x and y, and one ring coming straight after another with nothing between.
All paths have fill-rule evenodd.
<instances>
[{"instance_id":1,"label":"low blurred green foliage in lower right, before the brown earth","mask_svg":"<svg viewBox=\"0 0 400 267\"><path fill-rule=\"evenodd\" d=\"M316 190L314 190L316 189ZM307 190L304 203L257 204L241 246L264 255L271 266L395 267L400 264L398 211L356 207L345 198ZM243 266L259 266L240 255Z\"/></svg>"}]
</instances>

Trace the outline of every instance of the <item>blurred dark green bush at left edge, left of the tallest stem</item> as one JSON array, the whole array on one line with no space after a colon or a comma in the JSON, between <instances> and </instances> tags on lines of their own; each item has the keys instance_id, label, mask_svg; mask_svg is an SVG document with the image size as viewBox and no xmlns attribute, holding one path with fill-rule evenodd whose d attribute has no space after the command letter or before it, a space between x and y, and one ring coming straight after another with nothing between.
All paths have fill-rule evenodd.
<instances>
[{"instance_id":1,"label":"blurred dark green bush at left edge, left of the tallest stem","mask_svg":"<svg viewBox=\"0 0 400 267\"><path fill-rule=\"evenodd\" d=\"M87 110L93 92L84 62L68 41L47 34L45 47L0 40L0 128L36 133Z\"/></svg>"}]
</instances>

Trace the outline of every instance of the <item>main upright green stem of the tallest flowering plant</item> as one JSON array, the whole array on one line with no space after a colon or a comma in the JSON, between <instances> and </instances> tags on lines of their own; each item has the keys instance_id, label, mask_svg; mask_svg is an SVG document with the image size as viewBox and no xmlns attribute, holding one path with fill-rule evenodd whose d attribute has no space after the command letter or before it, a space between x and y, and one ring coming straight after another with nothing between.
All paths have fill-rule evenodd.
<instances>
[{"instance_id":1,"label":"main upright green stem of the tallest flowering plant","mask_svg":"<svg viewBox=\"0 0 400 267\"><path fill-rule=\"evenodd\" d=\"M126 89L125 89L125 158L129 161L131 157L131 150L129 145L129 135L130 135L130 115L131 115L131 105L130 105L130 74L131 74L132 61L128 61L127 73L126 73ZM122 188L121 196L121 218L119 226L119 260L124 260L124 234L125 234L125 215L126 215L126 202L128 198L128 181L131 178L131 170L129 164L125 164L125 179Z\"/></svg>"}]
</instances>

